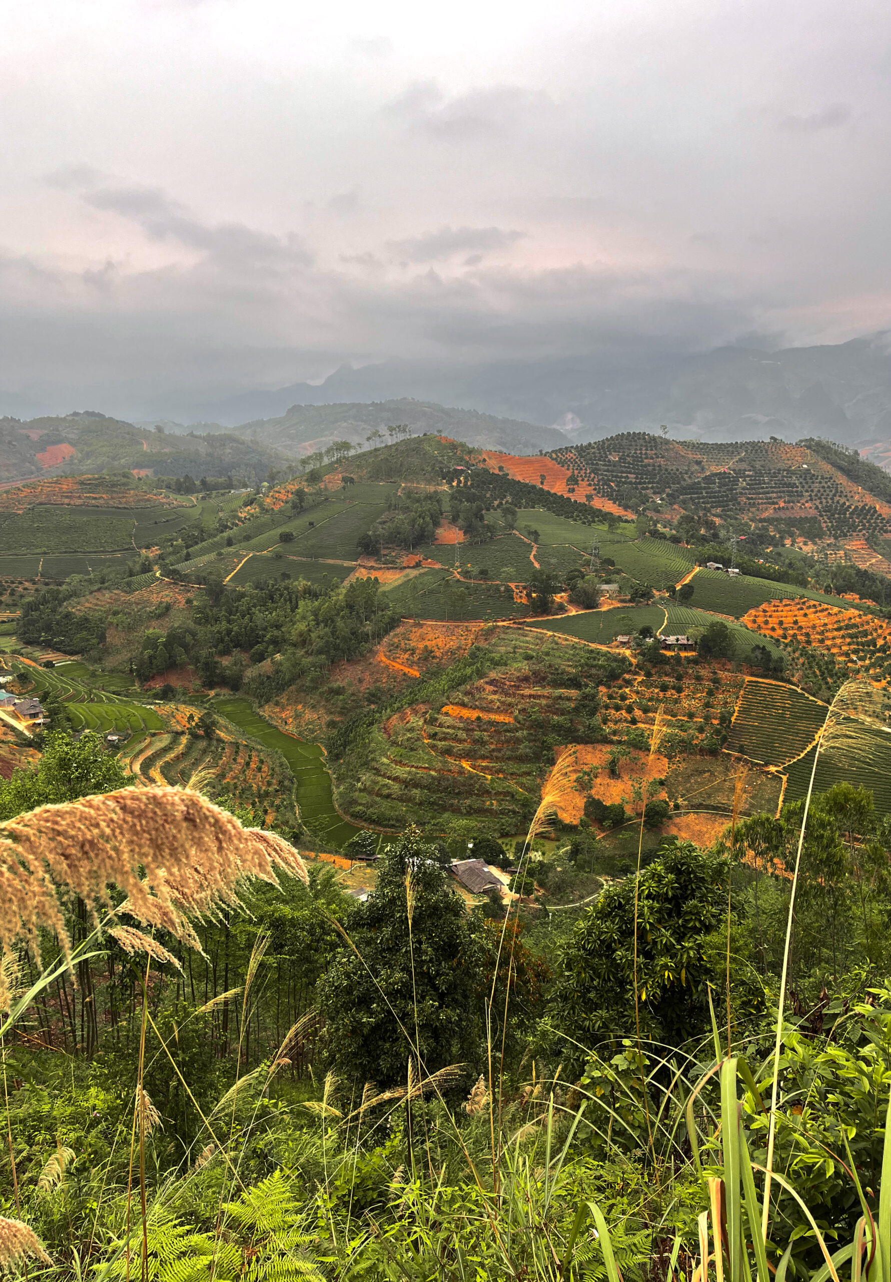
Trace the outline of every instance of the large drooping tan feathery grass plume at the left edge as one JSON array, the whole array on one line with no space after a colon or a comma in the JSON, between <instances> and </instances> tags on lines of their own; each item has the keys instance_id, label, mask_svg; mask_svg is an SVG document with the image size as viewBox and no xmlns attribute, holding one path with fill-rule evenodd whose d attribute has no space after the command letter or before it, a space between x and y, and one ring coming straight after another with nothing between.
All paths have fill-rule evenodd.
<instances>
[{"instance_id":1,"label":"large drooping tan feathery grass plume at the left edge","mask_svg":"<svg viewBox=\"0 0 891 1282\"><path fill-rule=\"evenodd\" d=\"M200 950L188 918L236 908L241 877L275 883L277 869L307 881L283 837L242 828L188 788L122 788L40 806L0 824L0 945L24 940L40 958L38 929L46 927L69 954L65 901L79 896L99 926L116 886L127 896L116 912Z\"/></svg>"}]
</instances>

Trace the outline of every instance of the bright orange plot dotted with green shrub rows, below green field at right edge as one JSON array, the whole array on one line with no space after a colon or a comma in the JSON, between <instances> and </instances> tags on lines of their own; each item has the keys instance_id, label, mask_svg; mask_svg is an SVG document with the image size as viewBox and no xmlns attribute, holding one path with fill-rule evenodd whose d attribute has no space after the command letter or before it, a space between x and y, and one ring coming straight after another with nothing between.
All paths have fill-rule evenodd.
<instances>
[{"instance_id":1,"label":"bright orange plot dotted with green shrub rows, below green field at right edge","mask_svg":"<svg viewBox=\"0 0 891 1282\"><path fill-rule=\"evenodd\" d=\"M766 601L744 617L764 636L796 641L835 655L847 667L887 676L891 662L891 623L860 610L822 601Z\"/></svg>"}]
</instances>

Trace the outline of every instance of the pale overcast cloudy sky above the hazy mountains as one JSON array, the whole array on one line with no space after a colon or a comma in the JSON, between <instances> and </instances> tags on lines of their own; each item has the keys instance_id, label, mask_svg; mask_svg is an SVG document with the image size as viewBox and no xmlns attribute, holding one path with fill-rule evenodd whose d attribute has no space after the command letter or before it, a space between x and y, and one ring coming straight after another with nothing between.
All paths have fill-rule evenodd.
<instances>
[{"instance_id":1,"label":"pale overcast cloudy sky above the hazy mountains","mask_svg":"<svg viewBox=\"0 0 891 1282\"><path fill-rule=\"evenodd\" d=\"M891 326L886 0L0 0L0 23L6 392L138 409L342 363Z\"/></svg>"}]
</instances>

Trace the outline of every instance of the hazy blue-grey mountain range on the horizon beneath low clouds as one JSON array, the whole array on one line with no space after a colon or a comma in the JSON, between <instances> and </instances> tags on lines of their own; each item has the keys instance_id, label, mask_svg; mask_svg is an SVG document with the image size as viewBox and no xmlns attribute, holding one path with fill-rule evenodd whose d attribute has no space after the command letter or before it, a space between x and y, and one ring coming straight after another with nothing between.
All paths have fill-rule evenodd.
<instances>
[{"instance_id":1,"label":"hazy blue-grey mountain range on the horizon beneath low clouds","mask_svg":"<svg viewBox=\"0 0 891 1282\"><path fill-rule=\"evenodd\" d=\"M317 386L245 392L200 406L198 417L227 427L287 418L309 428L310 406L349 406L355 418L362 403L406 397L513 419L517 449L529 424L562 429L575 440L653 431L666 423L676 437L828 435L856 445L891 437L891 342L886 333L877 333L837 345L775 351L734 346L694 356L649 350L458 369L416 363L343 365ZM410 408L403 415L411 420ZM376 426L370 409L358 417L362 424ZM420 406L416 417L422 417ZM550 437L547 444L542 438L535 447L553 444Z\"/></svg>"}]
</instances>

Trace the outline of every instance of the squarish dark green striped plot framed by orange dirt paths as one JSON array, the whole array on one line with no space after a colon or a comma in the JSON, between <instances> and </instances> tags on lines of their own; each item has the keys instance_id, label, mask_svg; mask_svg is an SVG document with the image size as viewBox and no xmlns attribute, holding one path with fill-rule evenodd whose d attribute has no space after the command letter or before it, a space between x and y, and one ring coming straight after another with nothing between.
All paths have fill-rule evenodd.
<instances>
[{"instance_id":1,"label":"squarish dark green striped plot framed by orange dirt paths","mask_svg":"<svg viewBox=\"0 0 891 1282\"><path fill-rule=\"evenodd\" d=\"M827 710L795 686L748 677L726 749L762 765L786 765L814 742Z\"/></svg>"}]
</instances>

